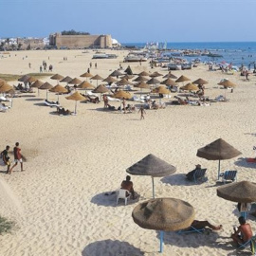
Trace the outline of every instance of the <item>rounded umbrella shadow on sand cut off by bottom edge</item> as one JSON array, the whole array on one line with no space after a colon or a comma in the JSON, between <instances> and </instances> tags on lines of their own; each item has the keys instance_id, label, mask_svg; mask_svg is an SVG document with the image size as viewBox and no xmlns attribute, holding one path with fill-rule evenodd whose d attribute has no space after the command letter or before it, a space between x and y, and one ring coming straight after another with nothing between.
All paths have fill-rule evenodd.
<instances>
[{"instance_id":1,"label":"rounded umbrella shadow on sand cut off by bottom edge","mask_svg":"<svg viewBox=\"0 0 256 256\"><path fill-rule=\"evenodd\" d=\"M144 255L137 247L119 240L102 240L94 242L82 250L82 256L140 256Z\"/></svg>"}]
</instances>

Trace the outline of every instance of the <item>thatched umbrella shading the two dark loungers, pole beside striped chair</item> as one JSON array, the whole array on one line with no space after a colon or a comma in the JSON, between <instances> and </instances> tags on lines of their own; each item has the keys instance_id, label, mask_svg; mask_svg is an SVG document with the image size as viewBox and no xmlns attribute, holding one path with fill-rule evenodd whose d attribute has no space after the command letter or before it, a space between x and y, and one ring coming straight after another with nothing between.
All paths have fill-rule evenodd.
<instances>
[{"instance_id":1,"label":"thatched umbrella shading the two dark loungers, pole beside striped chair","mask_svg":"<svg viewBox=\"0 0 256 256\"><path fill-rule=\"evenodd\" d=\"M208 159L208 160L219 160L219 168L218 168L218 179L220 177L220 160L231 159L237 155L241 155L242 153L229 145L222 138L218 138L206 145L203 148L197 150L197 156Z\"/></svg>"}]
</instances>

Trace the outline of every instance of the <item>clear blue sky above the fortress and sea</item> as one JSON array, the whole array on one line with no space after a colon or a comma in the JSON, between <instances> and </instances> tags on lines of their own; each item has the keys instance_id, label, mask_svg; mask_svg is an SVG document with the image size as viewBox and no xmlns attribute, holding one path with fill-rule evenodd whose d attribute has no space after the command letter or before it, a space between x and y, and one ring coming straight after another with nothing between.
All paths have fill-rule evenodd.
<instances>
[{"instance_id":1,"label":"clear blue sky above the fortress and sea","mask_svg":"<svg viewBox=\"0 0 256 256\"><path fill-rule=\"evenodd\" d=\"M0 0L0 38L75 29L121 43L256 42L256 0Z\"/></svg>"}]
</instances>

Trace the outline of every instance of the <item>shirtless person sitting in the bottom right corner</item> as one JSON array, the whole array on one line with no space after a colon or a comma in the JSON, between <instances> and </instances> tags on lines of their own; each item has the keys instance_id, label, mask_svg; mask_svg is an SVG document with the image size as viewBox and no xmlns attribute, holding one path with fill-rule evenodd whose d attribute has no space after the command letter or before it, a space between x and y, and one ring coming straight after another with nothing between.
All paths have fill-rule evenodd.
<instances>
[{"instance_id":1,"label":"shirtless person sitting in the bottom right corner","mask_svg":"<svg viewBox=\"0 0 256 256\"><path fill-rule=\"evenodd\" d=\"M238 221L240 226L238 229L234 228L234 233L231 234L231 238L237 244L237 246L247 243L247 241L249 241L252 237L252 230L250 225L246 222L246 219L243 216L240 216Z\"/></svg>"}]
</instances>

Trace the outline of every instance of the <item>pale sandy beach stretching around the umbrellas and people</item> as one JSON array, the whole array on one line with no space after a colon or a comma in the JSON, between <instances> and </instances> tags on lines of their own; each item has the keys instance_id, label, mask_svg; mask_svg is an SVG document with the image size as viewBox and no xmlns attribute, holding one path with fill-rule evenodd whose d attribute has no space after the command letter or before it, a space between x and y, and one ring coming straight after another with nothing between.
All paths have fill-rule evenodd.
<instances>
[{"instance_id":1,"label":"pale sandy beach stretching around the umbrellas and people","mask_svg":"<svg viewBox=\"0 0 256 256\"><path fill-rule=\"evenodd\" d=\"M82 80L80 75L91 62L91 73L106 78L119 68L127 52L105 51L117 54L118 59L92 60L95 53L92 50L10 52L10 57L0 59L0 73L21 76L38 73L39 66L46 61L53 65L52 74ZM123 69L128 66L121 64ZM146 70L165 75L168 72L161 67L151 69L149 63L130 66L134 73ZM79 102L77 116L60 117L55 113L56 108L44 104L46 91L40 91L38 96L35 90L34 94L15 98L7 113L0 112L1 151L6 145L12 149L19 141L27 158L23 173L17 166L8 175L4 173L6 167L0 166L0 215L17 223L12 233L1 236L0 255L237 255L230 239L232 226L238 225L236 204L216 195L218 161L199 158L196 152L221 137L242 152L238 157L223 160L221 170L237 170L238 181L255 181L256 164L247 163L245 158L255 156L252 148L256 78L251 75L247 82L239 73L210 72L204 64L192 70L172 72L192 81L198 78L208 81L205 95L214 99L226 94L229 101L212 102L209 107L171 105L170 101L177 95L172 93L171 99L163 100L166 109L146 110L144 120L139 119L138 112L104 111L102 101ZM237 84L233 93L217 85L224 78ZM49 77L42 81L57 84ZM49 93L49 100L56 99L55 94ZM60 102L64 108L74 110L75 102L65 100L64 95L60 96ZM111 104L119 106L119 102ZM105 195L119 189L127 174L125 170L148 154L176 167L175 174L155 178L155 196L189 202L197 220L222 224L222 230L183 235L166 232L164 252L158 252L158 231L141 229L132 219L135 206L152 198L151 177L132 176L135 190L140 194L138 202L130 201L124 206L120 201L116 206L116 195ZM13 162L13 155L11 158ZM208 169L208 182L186 181L185 174L195 164ZM248 216L254 232L255 221L255 217ZM243 255L249 254L245 251Z\"/></svg>"}]
</instances>

